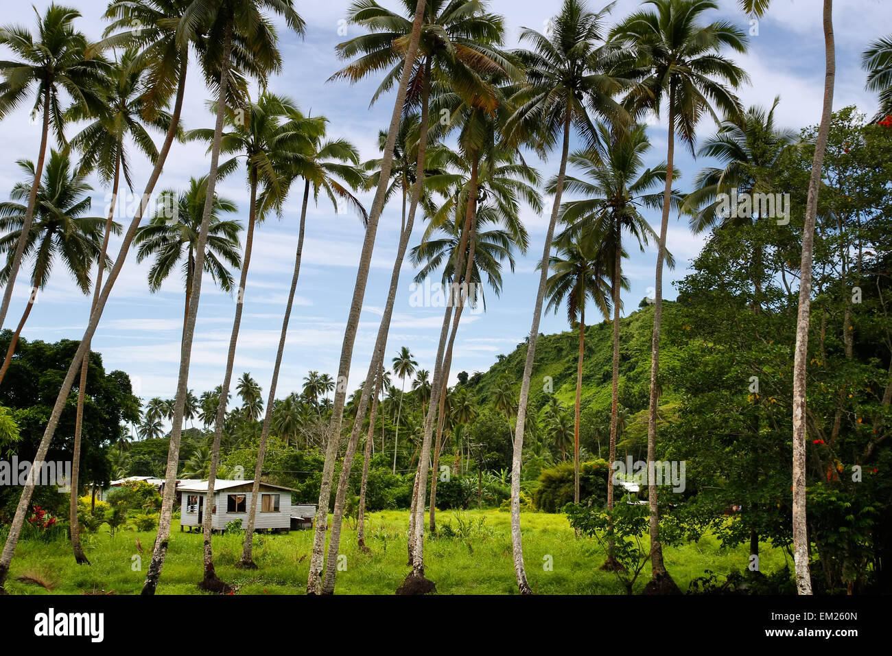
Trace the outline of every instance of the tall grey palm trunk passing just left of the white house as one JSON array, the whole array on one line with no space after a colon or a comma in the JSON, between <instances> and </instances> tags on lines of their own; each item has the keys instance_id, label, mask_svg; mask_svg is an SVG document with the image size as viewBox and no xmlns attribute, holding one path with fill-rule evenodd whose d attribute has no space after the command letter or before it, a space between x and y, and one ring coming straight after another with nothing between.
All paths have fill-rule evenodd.
<instances>
[{"instance_id":1,"label":"tall grey palm trunk passing just left of the white house","mask_svg":"<svg viewBox=\"0 0 892 656\"><path fill-rule=\"evenodd\" d=\"M217 167L220 155L220 139L223 134L223 119L226 114L227 85L229 81L229 59L232 53L233 18L227 18L226 34L223 37L223 55L220 64L219 96L217 98L217 121L214 125L214 137L211 144L211 170L208 173L207 188L205 190L204 208L202 212L201 232L198 235L198 244L195 248L195 270L192 274L192 299L189 301L189 319L183 330L183 342L180 347L179 373L177 381L177 399L174 402L173 428L170 430L170 446L168 449L168 464L165 474L164 496L161 502L161 518L158 521L158 534L155 536L155 544L152 553L152 561L145 577L142 594L155 594L158 579L161 578L161 569L164 568L164 558L167 555L168 540L170 536L170 521L173 516L173 503L177 492L177 468L179 463L179 443L183 432L183 409L186 405L186 393L188 392L189 364L192 360L192 341L195 332L195 321L198 319L198 303L202 294L202 273L204 272L204 247L208 240L208 228L211 224L211 213L214 203L214 190L217 186ZM226 394L220 394L221 399L226 399ZM224 402L225 403L225 402ZM213 515L213 496L211 488L206 495L208 516ZM205 519L205 523L206 523Z\"/></svg>"}]
</instances>

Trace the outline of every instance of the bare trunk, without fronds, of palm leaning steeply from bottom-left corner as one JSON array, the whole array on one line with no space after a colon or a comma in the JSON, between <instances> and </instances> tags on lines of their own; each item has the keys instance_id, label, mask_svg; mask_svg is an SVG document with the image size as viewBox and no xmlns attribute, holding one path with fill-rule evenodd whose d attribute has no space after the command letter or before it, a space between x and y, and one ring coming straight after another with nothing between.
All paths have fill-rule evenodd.
<instances>
[{"instance_id":1,"label":"bare trunk, without fronds, of palm leaning steeply from bottom-left corner","mask_svg":"<svg viewBox=\"0 0 892 656\"><path fill-rule=\"evenodd\" d=\"M87 329L84 331L84 336L80 340L78 350L75 352L74 357L71 359L68 372L65 374L65 378L62 380L62 388L59 390L59 394L56 396L56 400L53 405L53 411L50 413L50 418L46 422L44 435L43 437L41 437L40 444L37 446L37 453L34 456L34 467L42 464L44 458L46 457L46 452L49 450L50 442L52 442L53 436L55 435L55 429L59 425L59 418L62 416L62 410L64 409L65 404L68 402L68 394L71 391L71 386L74 385L74 377L80 369L80 365L84 360L84 355L88 353L90 339L92 339L96 330L96 326L99 325L99 320L102 318L105 303L108 301L108 297L111 294L111 287L114 286L114 282L118 279L120 270L124 266L124 261L127 259L128 249L131 242L133 241L133 237L136 235L136 228L139 228L139 222L143 219L145 206L148 204L149 196L152 194L155 188L155 184L158 182L158 179L161 176L161 170L164 168L164 162L167 160L167 156L170 152L170 145L173 144L173 139L177 135L179 116L180 112L183 109L183 96L186 92L186 63L187 62L184 60L181 66L180 79L178 81L177 95L174 101L174 109L171 115L170 126L167 132L167 136L164 137L164 144L161 145L161 151L158 154L158 160L155 162L152 174L149 176L148 182L146 182L145 192L143 192L143 197L139 204L139 208L137 209L136 215L133 217L133 220L130 221L127 234L124 236L124 240L120 246L118 257L115 259L114 266L111 268L111 272L109 273L108 282L105 283L102 295L99 297L99 303L90 316L90 321L87 324ZM9 565L12 562L12 556L15 554L16 545L19 543L19 536L21 536L21 527L25 523L25 515L28 512L32 494L34 494L34 481L30 480L29 482L26 482L25 486L22 488L21 497L19 498L19 504L15 510L15 516L12 519L12 525L10 526L9 533L6 536L6 543L4 544L3 553L0 554L0 594L3 594L5 592L4 583L6 581L7 575L9 574Z\"/></svg>"}]
</instances>

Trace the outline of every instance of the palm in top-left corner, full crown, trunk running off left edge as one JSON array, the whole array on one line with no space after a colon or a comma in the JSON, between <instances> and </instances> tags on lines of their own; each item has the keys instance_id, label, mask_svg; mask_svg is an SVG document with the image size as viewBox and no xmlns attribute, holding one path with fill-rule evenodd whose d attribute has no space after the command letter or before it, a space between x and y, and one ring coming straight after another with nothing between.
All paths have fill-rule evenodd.
<instances>
[{"instance_id":1,"label":"palm in top-left corner, full crown, trunk running off left edge","mask_svg":"<svg viewBox=\"0 0 892 656\"><path fill-rule=\"evenodd\" d=\"M30 234L34 219L37 189L44 172L46 146L50 125L60 145L65 145L64 95L97 115L103 109L105 76L110 65L101 54L89 48L87 37L74 28L73 23L80 18L77 9L50 4L43 15L37 14L37 32L18 25L0 27L0 46L12 51L16 60L0 62L0 119L33 97L31 117L41 120L40 146L37 151L37 164L34 178L29 184L28 200L25 203L21 241L16 244L9 262L9 273L5 278L3 302L0 304L0 326L6 320L12 298L12 287L19 273L21 258L25 251L25 240Z\"/></svg>"}]
</instances>

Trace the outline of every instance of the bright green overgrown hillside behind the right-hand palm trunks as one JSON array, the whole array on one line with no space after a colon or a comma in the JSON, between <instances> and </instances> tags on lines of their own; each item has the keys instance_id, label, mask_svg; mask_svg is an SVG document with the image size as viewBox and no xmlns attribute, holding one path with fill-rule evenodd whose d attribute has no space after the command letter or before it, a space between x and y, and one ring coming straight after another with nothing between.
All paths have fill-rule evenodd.
<instances>
[{"instance_id":1,"label":"bright green overgrown hillside behind the right-hand palm trunks","mask_svg":"<svg viewBox=\"0 0 892 656\"><path fill-rule=\"evenodd\" d=\"M675 303L664 302L664 325L671 325L677 311ZM650 386L650 343L654 324L652 305L644 305L620 321L619 403L628 414L623 431L622 449L635 453L647 439L647 415ZM610 420L610 377L612 370L613 327L607 321L585 330L585 353L582 364L582 429L583 446L598 453L598 442L607 450ZM680 336L664 329L662 346L667 357ZM549 383L552 393L569 411L573 410L576 393L576 361L579 355L579 333L567 330L557 335L540 335L536 344L533 380L530 388L531 407L538 411L548 401ZM526 341L508 355L500 355L490 370L476 372L467 379L467 387L481 406L491 404L492 390L505 376L519 387L524 373ZM676 407L677 397L664 389L660 399L661 418L668 419Z\"/></svg>"}]
</instances>

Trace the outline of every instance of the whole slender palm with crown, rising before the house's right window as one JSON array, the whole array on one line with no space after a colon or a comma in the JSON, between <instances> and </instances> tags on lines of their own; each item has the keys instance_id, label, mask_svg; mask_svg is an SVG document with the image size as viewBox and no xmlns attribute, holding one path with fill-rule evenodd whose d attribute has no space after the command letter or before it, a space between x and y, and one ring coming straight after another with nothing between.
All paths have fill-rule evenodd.
<instances>
[{"instance_id":1,"label":"whole slender palm with crown, rising before the house's right window","mask_svg":"<svg viewBox=\"0 0 892 656\"><path fill-rule=\"evenodd\" d=\"M294 255L294 270L292 274L291 288L288 292L288 301L285 303L285 315L282 320L282 329L279 333L279 345L276 354L276 362L273 365L273 376L269 386L269 402L267 414L263 419L263 428L260 431L260 446L258 451L257 466L254 473L254 487L251 501L251 509L248 513L248 526L245 533L240 567L251 568L252 561L252 531L254 518L257 511L256 498L260 493L260 473L263 459L266 454L269 422L272 419L269 408L275 398L278 384L279 370L282 357L285 353L285 337L288 333L288 323L291 320L291 311L294 302L294 293L301 272L301 253L303 252L303 237L306 227L307 205L310 201L310 193L314 201L318 203L319 194L324 194L331 201L335 212L345 205L359 215L364 226L368 224L368 212L359 199L351 193L364 187L367 180L359 167L359 152L356 147L345 139L326 139L327 120L323 117L305 117L301 112L290 112L290 120L285 125L285 132L291 134L289 143L296 146L296 152L287 158L285 162L285 176L290 181L303 179L303 201L301 203L301 220L298 227L297 250ZM339 204L341 203L341 204ZM335 389L335 381L324 374L317 377L314 382L314 399L319 394L326 395ZM317 405L318 408L318 405ZM321 419L321 411L319 411Z\"/></svg>"}]
</instances>

